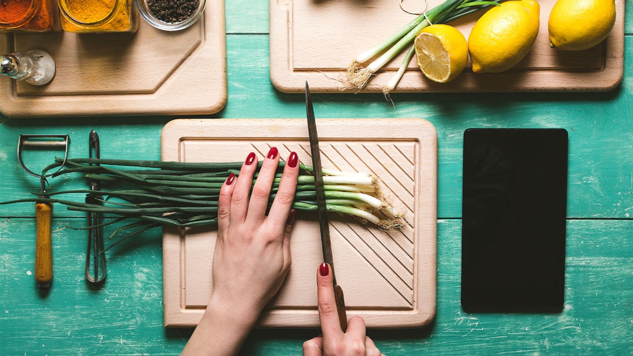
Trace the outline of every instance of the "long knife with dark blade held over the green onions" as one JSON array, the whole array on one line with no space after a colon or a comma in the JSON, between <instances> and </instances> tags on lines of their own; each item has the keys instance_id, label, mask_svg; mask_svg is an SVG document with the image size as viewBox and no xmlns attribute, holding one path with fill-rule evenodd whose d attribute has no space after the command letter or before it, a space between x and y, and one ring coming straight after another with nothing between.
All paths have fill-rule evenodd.
<instances>
[{"instance_id":1,"label":"long knife with dark blade held over the green onions","mask_svg":"<svg viewBox=\"0 0 633 356\"><path fill-rule=\"evenodd\" d=\"M321 231L321 246L323 248L323 262L330 265L332 269L332 284L334 284L334 298L336 308L339 312L339 322L341 329L348 328L348 317L345 312L345 299L343 289L336 284L334 274L334 260L332 258L332 243L330 243L330 225L327 219L327 205L325 205L325 188L323 188L323 174L321 172L321 151L318 148L318 135L316 134L315 111L310 98L310 87L306 82L306 111L308 115L308 133L310 134L310 151L312 155L312 166L314 167L316 186L316 206L318 207L319 229Z\"/></svg>"}]
</instances>

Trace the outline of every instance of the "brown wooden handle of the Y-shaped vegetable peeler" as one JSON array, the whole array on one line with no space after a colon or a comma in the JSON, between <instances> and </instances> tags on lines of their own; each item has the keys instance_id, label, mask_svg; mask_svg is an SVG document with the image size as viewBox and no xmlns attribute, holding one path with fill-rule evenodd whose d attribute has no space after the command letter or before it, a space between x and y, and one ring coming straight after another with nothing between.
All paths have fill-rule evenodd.
<instances>
[{"instance_id":1,"label":"brown wooden handle of the Y-shaped vegetable peeler","mask_svg":"<svg viewBox=\"0 0 633 356\"><path fill-rule=\"evenodd\" d=\"M53 246L51 241L52 203L35 203L35 281L42 288L48 288L53 281Z\"/></svg>"}]
</instances>

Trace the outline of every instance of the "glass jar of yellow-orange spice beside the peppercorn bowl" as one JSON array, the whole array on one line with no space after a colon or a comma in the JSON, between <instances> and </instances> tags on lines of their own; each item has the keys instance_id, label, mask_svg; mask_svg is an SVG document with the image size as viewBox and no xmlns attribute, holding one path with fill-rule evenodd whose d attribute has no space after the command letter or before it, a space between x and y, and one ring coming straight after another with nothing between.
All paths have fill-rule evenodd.
<instances>
[{"instance_id":1,"label":"glass jar of yellow-orange spice beside the peppercorn bowl","mask_svg":"<svg viewBox=\"0 0 633 356\"><path fill-rule=\"evenodd\" d=\"M2 1L2 0L0 0ZM133 0L58 0L66 32L135 32L139 13Z\"/></svg>"}]
</instances>

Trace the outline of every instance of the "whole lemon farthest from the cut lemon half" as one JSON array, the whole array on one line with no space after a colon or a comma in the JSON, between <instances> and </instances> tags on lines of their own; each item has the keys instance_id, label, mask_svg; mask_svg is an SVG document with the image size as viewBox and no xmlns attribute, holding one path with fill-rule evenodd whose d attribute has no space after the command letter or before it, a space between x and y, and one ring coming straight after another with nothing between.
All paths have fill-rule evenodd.
<instances>
[{"instance_id":1,"label":"whole lemon farthest from the cut lemon half","mask_svg":"<svg viewBox=\"0 0 633 356\"><path fill-rule=\"evenodd\" d=\"M558 0L549 13L549 42L582 51L602 42L615 23L615 0Z\"/></svg>"}]
</instances>

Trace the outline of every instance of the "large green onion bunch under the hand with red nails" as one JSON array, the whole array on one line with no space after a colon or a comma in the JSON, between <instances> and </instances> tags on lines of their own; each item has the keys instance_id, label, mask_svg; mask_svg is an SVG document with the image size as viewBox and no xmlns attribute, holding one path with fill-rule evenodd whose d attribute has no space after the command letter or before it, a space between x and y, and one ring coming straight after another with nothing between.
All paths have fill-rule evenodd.
<instances>
[{"instance_id":1,"label":"large green onion bunch under the hand with red nails","mask_svg":"<svg viewBox=\"0 0 633 356\"><path fill-rule=\"evenodd\" d=\"M62 162L63 160L56 158L56 163L44 168L44 174L60 167ZM261 162L259 165L261 166ZM268 208L272 205L279 189L281 169L284 165L284 162L279 163ZM56 203L65 205L68 210L115 215L118 219L99 226L82 228L89 229L127 222L110 234L110 239L120 233L124 236L108 246L106 248L108 250L124 239L154 227L199 227L217 224L220 188L230 174L239 175L241 167L242 162L188 163L96 158L69 159L65 163L65 168L53 177L78 173L89 181L100 181L106 189L53 191L44 194L37 192L32 194L42 197L0 202L0 205L23 202ZM299 175L292 208L316 211L315 177L310 175L314 170L308 165L299 165L299 168L305 175ZM385 230L402 225L403 216L387 203L378 188L376 177L325 168L322 174L329 212L351 215ZM254 178L256 177L257 174ZM85 194L103 205L55 198L73 194L82 194L82 196Z\"/></svg>"}]
</instances>

